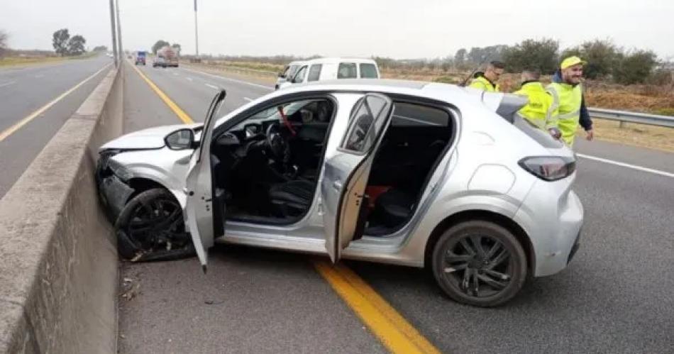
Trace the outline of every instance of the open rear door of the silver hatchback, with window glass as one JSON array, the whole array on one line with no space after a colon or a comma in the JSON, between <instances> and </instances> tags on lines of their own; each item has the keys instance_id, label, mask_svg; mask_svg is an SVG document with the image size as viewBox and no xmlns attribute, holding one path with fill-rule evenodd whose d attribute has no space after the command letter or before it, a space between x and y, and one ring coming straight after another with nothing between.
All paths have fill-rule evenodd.
<instances>
[{"instance_id":1,"label":"open rear door of the silver hatchback, with window glass","mask_svg":"<svg viewBox=\"0 0 674 354\"><path fill-rule=\"evenodd\" d=\"M392 115L387 96L366 94L355 104L346 135L325 165L321 195L326 248L333 262L363 233L367 207L365 187L372 159Z\"/></svg>"}]
</instances>

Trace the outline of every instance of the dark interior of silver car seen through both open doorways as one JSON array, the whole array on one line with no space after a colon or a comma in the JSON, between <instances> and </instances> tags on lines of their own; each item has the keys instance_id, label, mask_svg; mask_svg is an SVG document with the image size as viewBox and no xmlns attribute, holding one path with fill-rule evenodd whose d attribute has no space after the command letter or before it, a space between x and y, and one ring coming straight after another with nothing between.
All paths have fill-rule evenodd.
<instances>
[{"instance_id":1,"label":"dark interior of silver car seen through both open doorways","mask_svg":"<svg viewBox=\"0 0 674 354\"><path fill-rule=\"evenodd\" d=\"M213 140L216 204L226 219L287 225L311 208L335 104L306 99L272 107ZM451 139L447 111L396 102L392 122L375 152L368 187L365 234L402 228L438 157Z\"/></svg>"}]
</instances>

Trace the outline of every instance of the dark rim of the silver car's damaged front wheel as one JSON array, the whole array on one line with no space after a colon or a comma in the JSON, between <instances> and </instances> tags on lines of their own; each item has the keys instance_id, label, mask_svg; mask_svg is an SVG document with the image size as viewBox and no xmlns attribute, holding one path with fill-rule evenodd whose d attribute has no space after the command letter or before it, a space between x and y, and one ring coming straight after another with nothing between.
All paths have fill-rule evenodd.
<instances>
[{"instance_id":1,"label":"dark rim of the silver car's damaged front wheel","mask_svg":"<svg viewBox=\"0 0 674 354\"><path fill-rule=\"evenodd\" d=\"M133 208L124 227L128 238L144 251L171 250L187 245L182 209L176 201L155 197Z\"/></svg>"}]
</instances>

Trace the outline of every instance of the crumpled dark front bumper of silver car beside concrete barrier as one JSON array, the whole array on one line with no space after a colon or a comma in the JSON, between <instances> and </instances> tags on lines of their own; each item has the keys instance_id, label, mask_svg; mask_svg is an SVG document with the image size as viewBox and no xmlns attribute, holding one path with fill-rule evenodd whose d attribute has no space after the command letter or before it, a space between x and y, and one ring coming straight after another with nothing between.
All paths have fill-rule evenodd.
<instances>
[{"instance_id":1,"label":"crumpled dark front bumper of silver car beside concrete barrier","mask_svg":"<svg viewBox=\"0 0 674 354\"><path fill-rule=\"evenodd\" d=\"M114 155L116 155L115 151L104 151L96 163L96 186L98 187L99 198L112 223L117 220L129 197L134 192L134 189L111 168L110 157Z\"/></svg>"}]
</instances>

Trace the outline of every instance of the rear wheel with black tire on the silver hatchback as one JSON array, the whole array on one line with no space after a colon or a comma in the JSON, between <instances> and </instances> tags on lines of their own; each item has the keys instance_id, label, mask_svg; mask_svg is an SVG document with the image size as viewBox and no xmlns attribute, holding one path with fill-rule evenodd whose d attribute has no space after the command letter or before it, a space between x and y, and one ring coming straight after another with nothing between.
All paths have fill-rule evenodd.
<instances>
[{"instance_id":1,"label":"rear wheel with black tire on the silver hatchback","mask_svg":"<svg viewBox=\"0 0 674 354\"><path fill-rule=\"evenodd\" d=\"M490 221L465 221L448 228L434 245L431 261L433 276L443 292L472 306L508 302L527 275L526 254L519 240Z\"/></svg>"}]
</instances>

